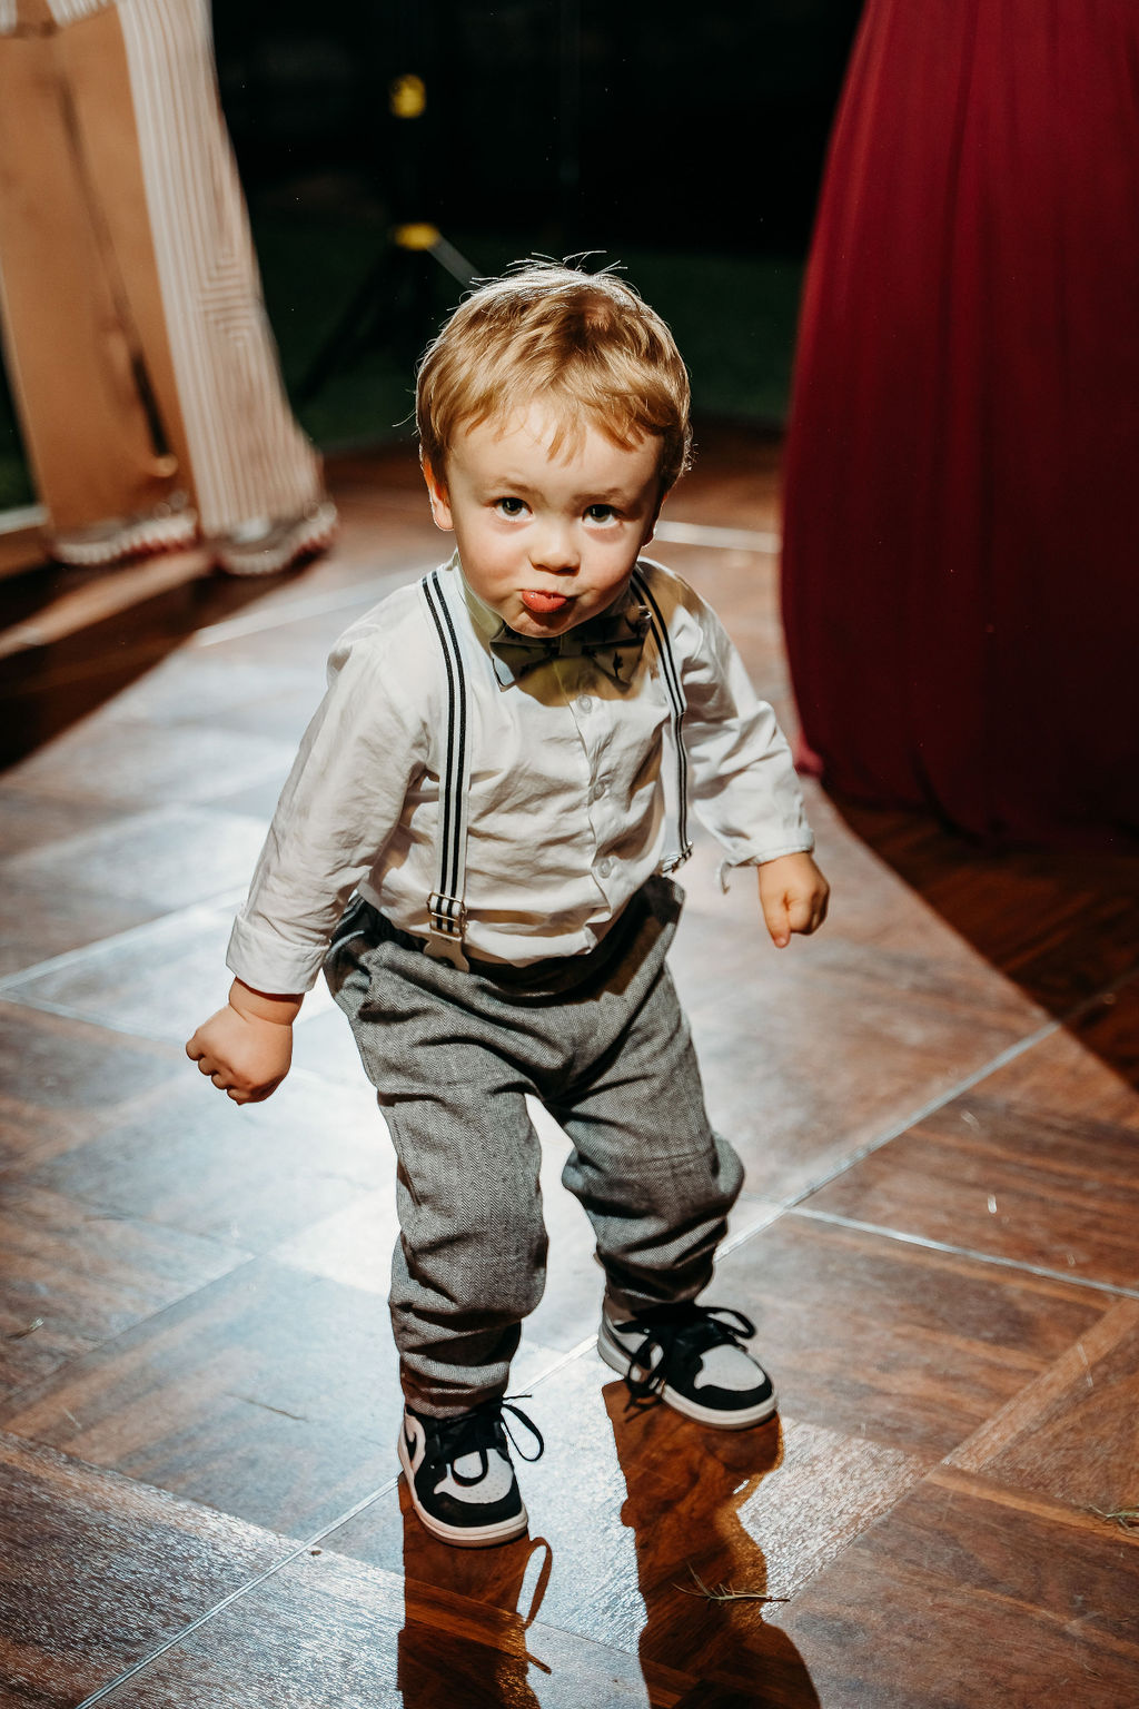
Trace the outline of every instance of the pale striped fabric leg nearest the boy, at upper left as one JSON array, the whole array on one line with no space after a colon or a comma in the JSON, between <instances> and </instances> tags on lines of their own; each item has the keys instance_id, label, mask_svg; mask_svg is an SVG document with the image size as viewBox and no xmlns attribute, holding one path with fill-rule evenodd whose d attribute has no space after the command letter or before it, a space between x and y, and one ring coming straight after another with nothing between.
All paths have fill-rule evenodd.
<instances>
[{"instance_id":1,"label":"pale striped fabric leg nearest the boy, at upper left","mask_svg":"<svg viewBox=\"0 0 1139 1709\"><path fill-rule=\"evenodd\" d=\"M84 5L89 0L53 0ZM120 0L166 326L207 533L321 496L265 321L207 0Z\"/></svg>"}]
</instances>

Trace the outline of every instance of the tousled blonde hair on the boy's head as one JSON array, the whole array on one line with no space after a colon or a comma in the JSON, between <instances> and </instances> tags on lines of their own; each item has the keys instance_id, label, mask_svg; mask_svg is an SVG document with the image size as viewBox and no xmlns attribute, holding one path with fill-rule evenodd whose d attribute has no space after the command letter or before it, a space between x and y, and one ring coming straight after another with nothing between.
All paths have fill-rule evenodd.
<instances>
[{"instance_id":1,"label":"tousled blonde hair on the boy's head","mask_svg":"<svg viewBox=\"0 0 1139 1709\"><path fill-rule=\"evenodd\" d=\"M663 494L688 467L688 371L661 316L615 273L523 261L459 304L415 383L420 449L435 479L446 479L461 429L531 403L555 419L555 455L574 451L584 415L625 449L657 438Z\"/></svg>"}]
</instances>

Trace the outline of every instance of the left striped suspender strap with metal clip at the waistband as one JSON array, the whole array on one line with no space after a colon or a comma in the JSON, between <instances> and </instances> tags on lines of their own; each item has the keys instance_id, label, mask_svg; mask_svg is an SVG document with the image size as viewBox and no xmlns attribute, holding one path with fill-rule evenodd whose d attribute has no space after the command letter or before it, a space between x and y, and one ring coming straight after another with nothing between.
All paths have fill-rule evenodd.
<instances>
[{"instance_id":1,"label":"left striped suspender strap with metal clip at the waistband","mask_svg":"<svg viewBox=\"0 0 1139 1709\"><path fill-rule=\"evenodd\" d=\"M427 899L430 937L427 954L466 969L463 933L466 931L466 791L471 771L468 735L468 690L463 649L447 608L447 600L434 569L420 588L427 600L447 673L447 728L439 767L439 839L435 848L435 889Z\"/></svg>"}]
</instances>

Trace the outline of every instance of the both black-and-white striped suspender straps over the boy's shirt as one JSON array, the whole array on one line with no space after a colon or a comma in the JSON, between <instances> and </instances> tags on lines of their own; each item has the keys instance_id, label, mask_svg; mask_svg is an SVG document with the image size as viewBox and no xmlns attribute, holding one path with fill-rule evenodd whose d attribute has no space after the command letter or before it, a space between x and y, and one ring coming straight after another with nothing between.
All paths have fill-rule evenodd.
<instances>
[{"instance_id":1,"label":"both black-and-white striped suspender straps over the boy's shirt","mask_svg":"<svg viewBox=\"0 0 1139 1709\"><path fill-rule=\"evenodd\" d=\"M671 713L673 754L676 759L676 851L661 861L661 872L675 872L692 854L688 841L688 761L681 738L685 690L676 668L668 624L640 569L632 586L649 612L649 629L661 661L661 680ZM439 571L420 583L432 625L442 649L447 677L447 723L442 764L439 766L439 841L435 848L435 889L427 899L430 935L427 954L454 962L466 971L463 935L466 931L466 800L471 778L470 701L466 667L454 617L447 605Z\"/></svg>"}]
</instances>

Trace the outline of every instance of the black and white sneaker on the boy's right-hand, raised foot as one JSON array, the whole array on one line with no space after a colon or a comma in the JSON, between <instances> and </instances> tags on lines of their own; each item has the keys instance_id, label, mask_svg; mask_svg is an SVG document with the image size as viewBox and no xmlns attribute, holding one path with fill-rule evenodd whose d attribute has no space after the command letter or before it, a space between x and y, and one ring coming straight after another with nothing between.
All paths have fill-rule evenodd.
<instances>
[{"instance_id":1,"label":"black and white sneaker on the boy's right-hand, raised foot","mask_svg":"<svg viewBox=\"0 0 1139 1709\"><path fill-rule=\"evenodd\" d=\"M625 1323L601 1316L598 1352L625 1377L628 1405L663 1400L686 1418L746 1430L775 1412L775 1389L743 1342L755 1324L727 1306L652 1306Z\"/></svg>"}]
</instances>

